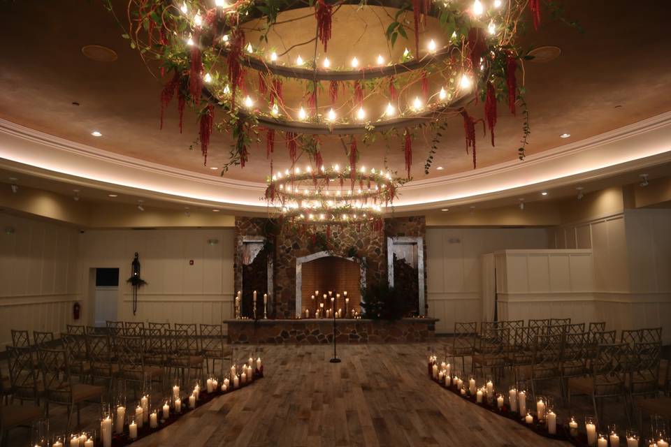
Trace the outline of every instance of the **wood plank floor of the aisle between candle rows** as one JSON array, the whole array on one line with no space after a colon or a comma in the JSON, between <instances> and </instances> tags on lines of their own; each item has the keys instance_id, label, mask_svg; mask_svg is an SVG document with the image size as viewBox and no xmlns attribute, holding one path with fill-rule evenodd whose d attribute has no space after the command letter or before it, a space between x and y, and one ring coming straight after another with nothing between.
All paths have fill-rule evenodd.
<instances>
[{"instance_id":1,"label":"wood plank floor of the aisle between candle rows","mask_svg":"<svg viewBox=\"0 0 671 447\"><path fill-rule=\"evenodd\" d=\"M250 349L238 349L240 359ZM426 377L426 346L264 346L266 377L134 446L565 446Z\"/></svg>"}]
</instances>

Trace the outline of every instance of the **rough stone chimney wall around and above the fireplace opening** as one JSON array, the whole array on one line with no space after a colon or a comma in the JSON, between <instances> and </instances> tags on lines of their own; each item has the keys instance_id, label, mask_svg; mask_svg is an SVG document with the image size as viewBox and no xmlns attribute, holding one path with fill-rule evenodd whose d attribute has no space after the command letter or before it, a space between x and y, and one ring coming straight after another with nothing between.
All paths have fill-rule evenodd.
<instances>
[{"instance_id":1,"label":"rough stone chimney wall around and above the fireplace opening","mask_svg":"<svg viewBox=\"0 0 671 447\"><path fill-rule=\"evenodd\" d=\"M264 236L274 247L275 318L292 318L296 306L296 258L328 250L336 256L366 260L366 284L387 280L387 237L426 235L424 216L385 219L384 233L369 226L331 226L330 231L302 232L289 226L277 227L269 219L236 217L236 251L243 236ZM327 234L328 233L328 234ZM426 244L426 242L425 242ZM425 251L426 253L426 247ZM235 256L236 291L240 290L242 264ZM426 260L426 257L425 257ZM426 261L425 261L426 262ZM424 268L426 272L426 268Z\"/></svg>"}]
</instances>

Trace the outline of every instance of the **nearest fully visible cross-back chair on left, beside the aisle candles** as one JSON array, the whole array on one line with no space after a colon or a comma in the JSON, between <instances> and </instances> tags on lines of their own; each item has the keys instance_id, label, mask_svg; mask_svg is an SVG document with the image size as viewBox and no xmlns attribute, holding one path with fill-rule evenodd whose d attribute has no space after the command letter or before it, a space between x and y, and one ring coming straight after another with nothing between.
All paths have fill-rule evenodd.
<instances>
[{"instance_id":1,"label":"nearest fully visible cross-back chair on left, beside the aisle candles","mask_svg":"<svg viewBox=\"0 0 671 447\"><path fill-rule=\"evenodd\" d=\"M74 383L71 379L68 354L65 349L47 349L38 346L38 358L42 369L45 392L45 414L49 417L49 406L65 405L68 409L66 433L70 433L72 413L77 409L77 427L80 426L82 402L100 402L104 388L86 383ZM63 367L62 367L63 365Z\"/></svg>"}]
</instances>

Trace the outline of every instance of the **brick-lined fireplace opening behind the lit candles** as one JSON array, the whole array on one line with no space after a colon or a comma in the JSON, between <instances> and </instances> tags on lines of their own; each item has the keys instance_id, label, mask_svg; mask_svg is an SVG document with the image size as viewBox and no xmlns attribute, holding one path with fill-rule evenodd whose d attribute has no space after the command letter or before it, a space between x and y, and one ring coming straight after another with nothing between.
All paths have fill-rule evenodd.
<instances>
[{"instance_id":1,"label":"brick-lined fireplace opening behind the lit candles","mask_svg":"<svg viewBox=\"0 0 671 447\"><path fill-rule=\"evenodd\" d=\"M323 295L333 292L335 309L346 316L352 310L361 312L361 289L366 286L366 258L346 258L331 251L319 251L296 258L296 316L314 318L317 309L329 309L330 300ZM313 299L315 292L319 294ZM346 302L344 291L347 291ZM340 293L340 298L337 295ZM320 304L324 307L321 308Z\"/></svg>"}]
</instances>

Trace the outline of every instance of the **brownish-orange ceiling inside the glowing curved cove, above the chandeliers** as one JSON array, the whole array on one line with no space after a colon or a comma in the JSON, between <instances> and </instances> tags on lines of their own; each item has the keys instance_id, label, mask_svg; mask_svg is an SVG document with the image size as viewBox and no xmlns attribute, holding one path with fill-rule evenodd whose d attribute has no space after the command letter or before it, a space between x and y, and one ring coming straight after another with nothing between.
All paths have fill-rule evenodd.
<instances>
[{"instance_id":1,"label":"brownish-orange ceiling inside the glowing curved cove, above the chandeliers","mask_svg":"<svg viewBox=\"0 0 671 447\"><path fill-rule=\"evenodd\" d=\"M561 133L570 133L568 140L580 140L671 109L669 96L660 94L671 86L671 58L663 57L671 44L666 31L670 12L667 2L633 6L617 0L604 7L600 2L567 0L563 4L567 15L584 27L584 34L546 14L540 30L524 37L525 45L556 45L562 50L561 57L554 61L529 62L525 67L531 110L529 154L565 144L567 140L558 138ZM123 17L124 3L117 1L115 7ZM159 130L161 82L143 64L138 52L131 50L112 15L99 2L59 2L55 8L49 2L26 0L3 2L1 8L3 33L10 38L0 41L0 117L131 156L138 163L149 161L219 175L209 167L226 161L226 135L213 138L210 161L205 167L198 148L191 148L197 134L192 113L186 113L182 135L177 130L174 107L168 112L164 130ZM344 64L350 55L363 61L374 58L378 50L384 54L384 41L376 29L380 24L364 28L360 15L352 9L342 9L335 15L329 50L329 58L335 64L341 59ZM364 29L366 36L374 37L362 38ZM287 31L282 45L301 41L303 34L305 31L300 29L294 35ZM118 59L87 59L81 51L84 45L110 47ZM400 45L394 51L401 51ZM305 50L303 57L307 55ZM481 116L480 108L472 107L471 113ZM496 148L488 144L489 138L478 138L479 167L517 157L521 119L510 116L504 105L499 110ZM101 131L103 136L93 137L93 130ZM420 141L415 144L415 179L425 178L423 146ZM336 140L330 147L324 157L326 162L342 162L340 142ZM362 163L375 166L387 151L391 166L401 168L400 145L398 149L386 149L382 142L363 149ZM461 122L454 120L435 157L434 166L444 170L433 170L429 177L468 171L471 163L464 148ZM280 161L276 161L276 166L284 168ZM265 149L257 148L252 150L245 169L233 168L225 176L264 182L268 172Z\"/></svg>"}]
</instances>

